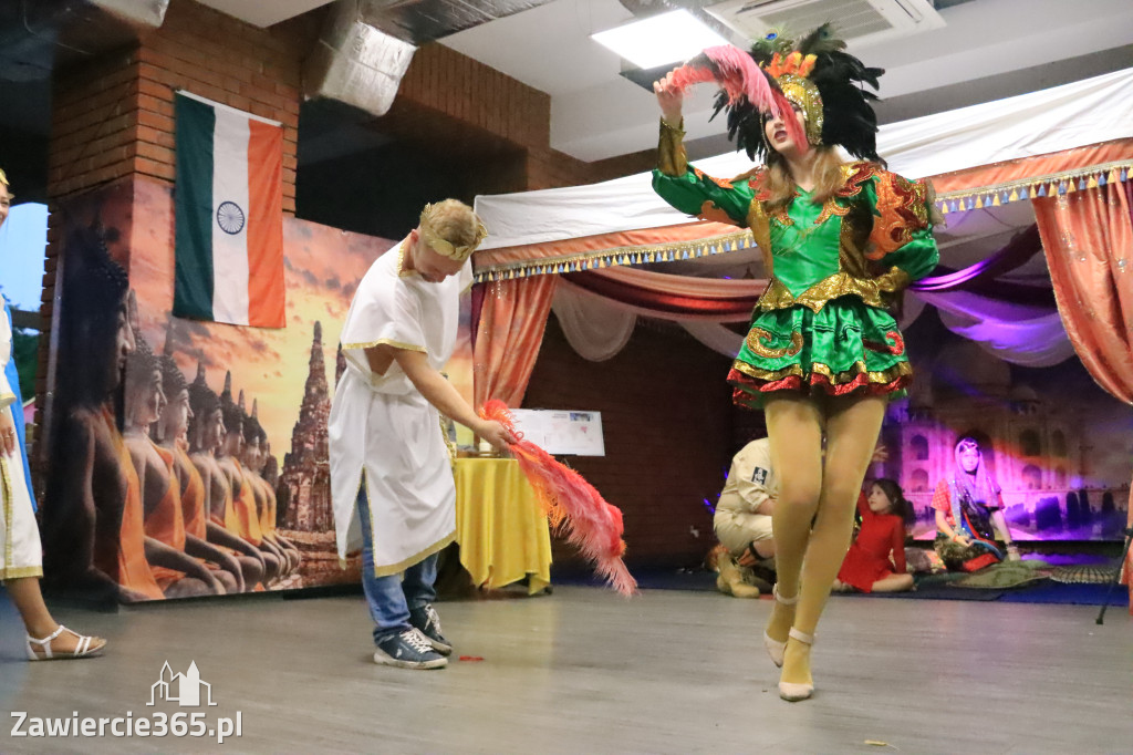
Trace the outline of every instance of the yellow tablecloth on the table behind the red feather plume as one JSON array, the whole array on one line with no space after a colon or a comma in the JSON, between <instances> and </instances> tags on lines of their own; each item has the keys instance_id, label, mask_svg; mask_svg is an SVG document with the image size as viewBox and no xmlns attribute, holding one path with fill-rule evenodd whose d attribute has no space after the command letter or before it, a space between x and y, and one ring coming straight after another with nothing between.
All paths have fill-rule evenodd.
<instances>
[{"instance_id":1,"label":"yellow tablecloth on the table behind the red feather plume","mask_svg":"<svg viewBox=\"0 0 1133 755\"><path fill-rule=\"evenodd\" d=\"M528 593L551 584L551 533L514 459L457 459L460 562L478 587L530 575Z\"/></svg>"}]
</instances>

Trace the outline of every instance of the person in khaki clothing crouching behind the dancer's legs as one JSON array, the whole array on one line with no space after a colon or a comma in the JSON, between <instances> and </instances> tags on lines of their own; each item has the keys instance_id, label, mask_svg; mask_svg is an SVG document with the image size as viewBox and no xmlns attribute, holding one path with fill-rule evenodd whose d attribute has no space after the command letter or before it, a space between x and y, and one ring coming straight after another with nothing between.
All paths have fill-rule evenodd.
<instances>
[{"instance_id":1,"label":"person in khaki clothing crouching behind the dancer's legs","mask_svg":"<svg viewBox=\"0 0 1133 755\"><path fill-rule=\"evenodd\" d=\"M760 591L770 589L775 557L772 512L777 494L770 441L751 441L732 459L713 519L722 551L717 553L716 579L722 593L758 597Z\"/></svg>"}]
</instances>

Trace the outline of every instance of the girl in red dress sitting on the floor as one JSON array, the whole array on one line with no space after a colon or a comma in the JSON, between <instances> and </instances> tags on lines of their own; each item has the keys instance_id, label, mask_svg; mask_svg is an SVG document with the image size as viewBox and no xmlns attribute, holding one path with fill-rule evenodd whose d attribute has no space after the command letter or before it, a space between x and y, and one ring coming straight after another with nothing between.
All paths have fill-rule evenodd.
<instances>
[{"instance_id":1,"label":"girl in red dress sitting on the floor","mask_svg":"<svg viewBox=\"0 0 1133 755\"><path fill-rule=\"evenodd\" d=\"M861 531L850 545L834 589L863 593L900 593L913 588L905 572L905 512L909 502L901 485L878 480L858 499ZM889 553L893 560L889 560Z\"/></svg>"}]
</instances>

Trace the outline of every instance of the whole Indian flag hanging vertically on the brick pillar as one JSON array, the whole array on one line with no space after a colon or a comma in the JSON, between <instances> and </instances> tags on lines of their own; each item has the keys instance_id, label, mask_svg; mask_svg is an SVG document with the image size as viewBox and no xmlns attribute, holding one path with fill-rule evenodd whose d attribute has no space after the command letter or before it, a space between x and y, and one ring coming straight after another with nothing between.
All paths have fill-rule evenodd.
<instances>
[{"instance_id":1,"label":"whole Indian flag hanging vertically on the brick pillar","mask_svg":"<svg viewBox=\"0 0 1133 755\"><path fill-rule=\"evenodd\" d=\"M173 314L282 328L283 129L178 92Z\"/></svg>"}]
</instances>

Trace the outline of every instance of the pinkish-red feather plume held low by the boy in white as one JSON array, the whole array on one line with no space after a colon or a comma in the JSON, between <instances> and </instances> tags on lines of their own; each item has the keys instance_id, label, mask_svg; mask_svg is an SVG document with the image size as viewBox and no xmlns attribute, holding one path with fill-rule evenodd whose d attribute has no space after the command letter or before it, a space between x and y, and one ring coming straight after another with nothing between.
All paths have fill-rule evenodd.
<instances>
[{"instance_id":1,"label":"pinkish-red feather plume held low by the boy in white","mask_svg":"<svg viewBox=\"0 0 1133 755\"><path fill-rule=\"evenodd\" d=\"M519 468L535 490L535 497L547 514L551 526L566 535L595 571L622 595L637 592L637 580L625 568L622 555L622 512L606 502L582 475L560 464L553 456L516 432L516 423L503 401L488 400L479 412L506 427L517 441L510 450Z\"/></svg>"}]
</instances>

